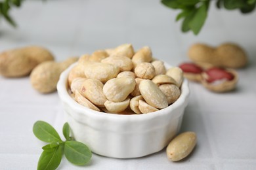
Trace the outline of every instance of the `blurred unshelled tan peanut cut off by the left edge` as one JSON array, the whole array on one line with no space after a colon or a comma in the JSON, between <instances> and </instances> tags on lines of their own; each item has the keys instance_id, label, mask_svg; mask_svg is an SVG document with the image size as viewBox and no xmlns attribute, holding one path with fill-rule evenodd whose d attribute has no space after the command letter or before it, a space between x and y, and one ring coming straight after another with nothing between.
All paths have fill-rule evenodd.
<instances>
[{"instance_id":1,"label":"blurred unshelled tan peanut cut off by the left edge","mask_svg":"<svg viewBox=\"0 0 256 170\"><path fill-rule=\"evenodd\" d=\"M54 60L51 52L40 46L7 50L0 54L0 75L6 77L27 76L39 63L51 60Z\"/></svg>"}]
</instances>

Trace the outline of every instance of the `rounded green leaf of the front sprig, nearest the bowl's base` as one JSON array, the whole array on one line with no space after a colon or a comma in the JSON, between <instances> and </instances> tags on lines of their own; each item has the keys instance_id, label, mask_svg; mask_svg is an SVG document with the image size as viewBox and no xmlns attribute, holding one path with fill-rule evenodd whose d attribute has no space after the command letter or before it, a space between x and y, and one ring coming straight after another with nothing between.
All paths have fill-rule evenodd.
<instances>
[{"instance_id":1,"label":"rounded green leaf of the front sprig, nearest the bowl's base","mask_svg":"<svg viewBox=\"0 0 256 170\"><path fill-rule=\"evenodd\" d=\"M64 145L64 154L68 161L75 165L85 165L91 160L91 150L77 141L66 141Z\"/></svg>"}]
</instances>

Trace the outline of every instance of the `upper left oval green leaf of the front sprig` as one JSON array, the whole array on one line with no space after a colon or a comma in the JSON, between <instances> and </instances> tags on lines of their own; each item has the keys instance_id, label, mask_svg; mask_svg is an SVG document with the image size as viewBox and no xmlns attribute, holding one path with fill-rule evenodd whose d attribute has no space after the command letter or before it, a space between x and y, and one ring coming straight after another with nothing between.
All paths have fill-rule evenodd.
<instances>
[{"instance_id":1,"label":"upper left oval green leaf of the front sprig","mask_svg":"<svg viewBox=\"0 0 256 170\"><path fill-rule=\"evenodd\" d=\"M37 121L33 125L33 134L41 141L52 143L62 142L57 131L47 122Z\"/></svg>"}]
</instances>

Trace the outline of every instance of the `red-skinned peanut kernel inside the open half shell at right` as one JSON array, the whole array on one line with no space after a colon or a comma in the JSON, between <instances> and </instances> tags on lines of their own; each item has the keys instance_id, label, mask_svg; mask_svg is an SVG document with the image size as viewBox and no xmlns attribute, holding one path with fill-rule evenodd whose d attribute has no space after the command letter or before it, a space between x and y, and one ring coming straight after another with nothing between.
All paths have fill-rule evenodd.
<instances>
[{"instance_id":1,"label":"red-skinned peanut kernel inside the open half shell at right","mask_svg":"<svg viewBox=\"0 0 256 170\"><path fill-rule=\"evenodd\" d=\"M232 73L218 67L207 69L205 73L208 75L207 82L214 82L215 80L222 79L230 81L234 79L234 75L232 75Z\"/></svg>"}]
</instances>

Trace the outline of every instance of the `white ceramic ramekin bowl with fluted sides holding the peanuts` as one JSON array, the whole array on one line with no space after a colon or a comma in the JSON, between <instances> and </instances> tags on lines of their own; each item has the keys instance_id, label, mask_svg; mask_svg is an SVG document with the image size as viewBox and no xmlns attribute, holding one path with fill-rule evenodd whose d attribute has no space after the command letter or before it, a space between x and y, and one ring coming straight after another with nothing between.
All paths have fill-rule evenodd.
<instances>
[{"instance_id":1,"label":"white ceramic ramekin bowl with fluted sides holding the peanuts","mask_svg":"<svg viewBox=\"0 0 256 170\"><path fill-rule=\"evenodd\" d=\"M87 144L94 153L112 158L146 156L162 150L179 131L188 104L186 79L179 99L165 109L148 114L107 114L87 109L70 97L67 79L72 67L74 64L60 75L58 95L75 140Z\"/></svg>"}]
</instances>

